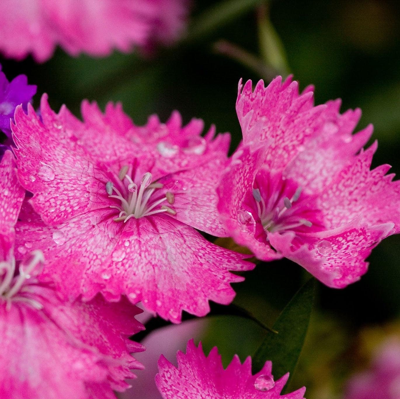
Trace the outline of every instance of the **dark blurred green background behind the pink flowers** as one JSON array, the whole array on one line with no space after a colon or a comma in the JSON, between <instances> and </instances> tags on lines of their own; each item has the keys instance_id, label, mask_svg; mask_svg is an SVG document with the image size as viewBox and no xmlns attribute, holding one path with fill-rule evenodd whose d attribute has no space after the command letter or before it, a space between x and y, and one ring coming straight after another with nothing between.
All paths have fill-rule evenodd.
<instances>
[{"instance_id":1,"label":"dark blurred green background behind the pink flowers","mask_svg":"<svg viewBox=\"0 0 400 399\"><path fill-rule=\"evenodd\" d=\"M38 85L35 106L44 92L54 108L65 103L76 115L84 98L101 107L107 101L122 101L126 113L139 124L151 113L165 120L178 109L185 122L200 117L206 127L215 123L218 131L230 131L233 149L241 137L235 113L239 79L268 81L274 74L258 61L262 51L256 15L257 4L262 3L236 0L220 6L198 1L192 6L188 36L152 56L115 53L105 59L71 58L58 49L45 64L30 58L0 62L9 78L25 73L30 83ZM214 13L204 14L213 6ZM342 111L361 107L358 128L373 123L373 138L379 141L375 166L389 163L399 174L399 2L282 0L271 2L267 14L300 87L315 84L316 103L341 97ZM224 46L229 54L223 54ZM243 51L253 54L253 66L245 65L252 58L235 59L242 58ZM286 72L279 62L276 65ZM390 332L400 334L396 327L399 244L398 236L382 242L360 282L344 290L318 285L306 345L291 383L293 388L306 385L309 399L339 397L343 381L368 362L370 349ZM246 273L246 282L235 285L235 303L272 325L306 278L306 272L290 261L259 264ZM203 340L207 350L218 345L227 364L234 353L242 359L251 355L263 334L251 321L216 316Z\"/></svg>"}]
</instances>

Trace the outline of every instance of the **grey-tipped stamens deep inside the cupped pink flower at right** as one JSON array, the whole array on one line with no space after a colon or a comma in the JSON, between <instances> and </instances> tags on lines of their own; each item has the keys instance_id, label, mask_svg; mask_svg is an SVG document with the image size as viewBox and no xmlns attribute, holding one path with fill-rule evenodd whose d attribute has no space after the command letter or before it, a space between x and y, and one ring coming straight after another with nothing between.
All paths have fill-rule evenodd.
<instances>
[{"instance_id":1,"label":"grey-tipped stamens deep inside the cupped pink flower at right","mask_svg":"<svg viewBox=\"0 0 400 399\"><path fill-rule=\"evenodd\" d=\"M276 231L293 230L300 226L312 226L310 220L299 217L291 210L293 203L300 198L301 192L302 188L298 187L290 199L284 197L283 200L278 201L273 206L267 206L261 197L260 189L253 189L258 216L264 230L273 233Z\"/></svg>"}]
</instances>

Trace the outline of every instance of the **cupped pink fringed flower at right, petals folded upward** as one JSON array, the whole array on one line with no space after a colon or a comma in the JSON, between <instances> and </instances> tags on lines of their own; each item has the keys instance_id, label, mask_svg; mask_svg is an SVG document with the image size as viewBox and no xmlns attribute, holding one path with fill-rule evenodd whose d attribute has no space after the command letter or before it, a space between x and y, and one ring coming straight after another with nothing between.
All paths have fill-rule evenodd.
<instances>
[{"instance_id":1,"label":"cupped pink fringed flower at right, petals folded upward","mask_svg":"<svg viewBox=\"0 0 400 399\"><path fill-rule=\"evenodd\" d=\"M274 79L239 84L243 145L218 189L218 209L238 244L262 260L286 256L324 284L343 288L367 270L380 240L399 230L400 184L370 170L372 126L352 135L360 110L313 106L312 88Z\"/></svg>"}]
</instances>

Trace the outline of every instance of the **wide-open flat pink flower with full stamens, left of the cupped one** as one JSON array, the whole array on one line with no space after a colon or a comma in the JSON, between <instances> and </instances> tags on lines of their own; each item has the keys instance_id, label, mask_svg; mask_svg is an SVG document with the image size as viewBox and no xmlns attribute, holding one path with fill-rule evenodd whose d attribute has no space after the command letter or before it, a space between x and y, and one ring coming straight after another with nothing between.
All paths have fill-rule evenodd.
<instances>
[{"instance_id":1,"label":"wide-open flat pink flower with full stamens, left of the cupped one","mask_svg":"<svg viewBox=\"0 0 400 399\"><path fill-rule=\"evenodd\" d=\"M162 126L169 132L162 141L135 144L139 136L126 131L129 123L118 107L108 107L104 116L87 104L83 109L83 123L65 107L55 114L46 97L42 121L32 107L28 115L16 110L18 177L33 193L17 224L18 244L30 242L44 252L49 263L43 276L72 299L82 294L87 301L101 292L115 301L126 294L173 322L182 310L204 316L208 300L230 303L230 283L243 278L229 270L254 265L195 230L226 234L215 187L216 171L228 159L222 145L214 149L226 136L202 139L198 122L181 128L174 114ZM156 137L152 121L145 130ZM176 146L176 157L164 152L167 145Z\"/></svg>"}]
</instances>

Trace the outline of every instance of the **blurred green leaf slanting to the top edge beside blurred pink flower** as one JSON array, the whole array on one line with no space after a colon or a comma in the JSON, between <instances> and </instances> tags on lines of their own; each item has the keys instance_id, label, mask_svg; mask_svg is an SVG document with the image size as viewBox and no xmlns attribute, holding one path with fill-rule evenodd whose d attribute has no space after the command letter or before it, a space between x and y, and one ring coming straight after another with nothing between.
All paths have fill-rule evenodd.
<instances>
[{"instance_id":1,"label":"blurred green leaf slanting to the top edge beside blurred pink flower","mask_svg":"<svg viewBox=\"0 0 400 399\"><path fill-rule=\"evenodd\" d=\"M265 0L227 0L215 4L198 16L190 27L187 40L198 40L208 36L216 28L238 18L240 15L262 4Z\"/></svg>"}]
</instances>

